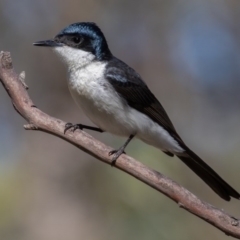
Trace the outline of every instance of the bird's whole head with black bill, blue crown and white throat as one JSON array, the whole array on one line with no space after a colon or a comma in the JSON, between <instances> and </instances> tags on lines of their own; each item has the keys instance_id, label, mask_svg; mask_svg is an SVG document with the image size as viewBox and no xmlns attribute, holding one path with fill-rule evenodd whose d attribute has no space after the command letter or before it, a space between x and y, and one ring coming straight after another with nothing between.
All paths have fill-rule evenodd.
<instances>
[{"instance_id":1,"label":"bird's whole head with black bill, blue crown and white throat","mask_svg":"<svg viewBox=\"0 0 240 240\"><path fill-rule=\"evenodd\" d=\"M73 23L53 39L38 41L33 45L53 48L67 65L81 64L94 59L105 61L112 56L102 31L91 22Z\"/></svg>"}]
</instances>

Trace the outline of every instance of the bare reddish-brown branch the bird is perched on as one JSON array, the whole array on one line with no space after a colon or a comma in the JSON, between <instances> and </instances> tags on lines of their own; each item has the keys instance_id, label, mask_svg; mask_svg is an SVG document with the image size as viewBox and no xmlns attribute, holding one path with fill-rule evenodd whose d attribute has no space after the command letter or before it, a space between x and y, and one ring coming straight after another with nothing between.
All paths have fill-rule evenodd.
<instances>
[{"instance_id":1,"label":"bare reddish-brown branch the bird is perched on","mask_svg":"<svg viewBox=\"0 0 240 240\"><path fill-rule=\"evenodd\" d=\"M28 122L28 124L24 125L26 130L38 130L55 135L98 160L111 164L111 157L108 156L108 152L112 150L110 147L84 131L78 130L74 133L68 131L64 134L65 122L50 117L39 110L27 93L24 78L24 72L20 75L15 73L10 53L0 52L0 81L11 98L16 111ZM201 201L191 192L161 173L144 166L125 154L118 158L115 167L163 193L178 203L179 207L205 220L225 234L240 239L239 219Z\"/></svg>"}]
</instances>

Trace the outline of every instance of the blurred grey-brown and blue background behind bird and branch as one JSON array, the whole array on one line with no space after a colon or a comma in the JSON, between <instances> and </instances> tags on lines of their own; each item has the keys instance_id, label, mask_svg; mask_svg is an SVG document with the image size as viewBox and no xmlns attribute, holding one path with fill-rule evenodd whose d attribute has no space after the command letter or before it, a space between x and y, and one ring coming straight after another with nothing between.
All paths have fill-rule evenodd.
<instances>
[{"instance_id":1,"label":"blurred grey-brown and blue background behind bird and branch","mask_svg":"<svg viewBox=\"0 0 240 240\"><path fill-rule=\"evenodd\" d=\"M96 22L113 54L136 69L179 134L240 191L238 0L0 0L0 50L26 71L34 103L66 122L91 124L73 102L66 68L32 43L78 21ZM161 193L67 142L25 131L0 87L0 239L226 239ZM119 147L124 138L89 132ZM127 153L235 217L177 158L134 140Z\"/></svg>"}]
</instances>

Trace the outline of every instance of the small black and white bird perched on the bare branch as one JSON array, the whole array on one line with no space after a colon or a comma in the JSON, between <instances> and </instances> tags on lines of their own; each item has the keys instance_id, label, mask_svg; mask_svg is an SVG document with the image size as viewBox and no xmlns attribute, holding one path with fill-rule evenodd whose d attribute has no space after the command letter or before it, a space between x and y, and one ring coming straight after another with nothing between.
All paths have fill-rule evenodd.
<instances>
[{"instance_id":1,"label":"small black and white bird perched on the bare branch","mask_svg":"<svg viewBox=\"0 0 240 240\"><path fill-rule=\"evenodd\" d=\"M191 151L176 132L161 103L131 67L113 56L100 28L91 22L69 25L53 39L35 46L51 47L67 64L68 86L89 119L98 127L66 124L65 132L91 129L128 137L111 151L113 163L133 137L176 155L213 191L229 201L240 194Z\"/></svg>"}]
</instances>

